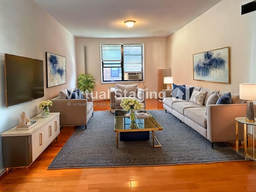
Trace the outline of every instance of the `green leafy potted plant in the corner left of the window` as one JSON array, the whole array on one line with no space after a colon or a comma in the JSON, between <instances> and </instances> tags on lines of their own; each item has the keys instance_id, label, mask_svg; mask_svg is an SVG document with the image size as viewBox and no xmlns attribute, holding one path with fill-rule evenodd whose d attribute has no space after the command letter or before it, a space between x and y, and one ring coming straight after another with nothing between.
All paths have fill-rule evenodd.
<instances>
[{"instance_id":1,"label":"green leafy potted plant in the corner left of the window","mask_svg":"<svg viewBox=\"0 0 256 192\"><path fill-rule=\"evenodd\" d=\"M82 92L92 92L95 89L95 78L92 74L80 74L77 78L77 86Z\"/></svg>"}]
</instances>

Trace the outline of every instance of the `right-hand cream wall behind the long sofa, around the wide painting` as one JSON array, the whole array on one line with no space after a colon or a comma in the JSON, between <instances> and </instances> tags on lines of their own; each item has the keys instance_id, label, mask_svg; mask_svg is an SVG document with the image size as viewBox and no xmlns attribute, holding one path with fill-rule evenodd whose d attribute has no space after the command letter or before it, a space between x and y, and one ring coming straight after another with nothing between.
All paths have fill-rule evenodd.
<instances>
[{"instance_id":1,"label":"right-hand cream wall behind the long sofa, around the wide painting","mask_svg":"<svg viewBox=\"0 0 256 192\"><path fill-rule=\"evenodd\" d=\"M248 2L251 0L222 0L168 38L168 66L174 83L239 93L239 84L252 80L256 11L241 15L241 6ZM193 80L193 54L227 46L230 46L230 84Z\"/></svg>"}]
</instances>

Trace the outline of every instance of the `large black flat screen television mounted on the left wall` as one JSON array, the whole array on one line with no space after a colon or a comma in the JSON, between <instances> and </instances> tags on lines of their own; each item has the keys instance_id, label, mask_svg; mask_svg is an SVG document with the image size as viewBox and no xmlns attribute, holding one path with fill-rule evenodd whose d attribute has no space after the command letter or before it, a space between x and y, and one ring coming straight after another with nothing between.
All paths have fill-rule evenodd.
<instances>
[{"instance_id":1,"label":"large black flat screen television mounted on the left wall","mask_svg":"<svg viewBox=\"0 0 256 192\"><path fill-rule=\"evenodd\" d=\"M44 62L5 54L6 107L44 96Z\"/></svg>"}]
</instances>

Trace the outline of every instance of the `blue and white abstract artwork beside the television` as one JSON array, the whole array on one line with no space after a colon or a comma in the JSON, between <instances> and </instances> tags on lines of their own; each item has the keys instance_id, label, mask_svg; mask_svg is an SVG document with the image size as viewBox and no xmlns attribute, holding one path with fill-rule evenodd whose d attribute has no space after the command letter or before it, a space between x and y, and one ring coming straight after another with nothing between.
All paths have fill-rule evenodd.
<instances>
[{"instance_id":1,"label":"blue and white abstract artwork beside the television","mask_svg":"<svg viewBox=\"0 0 256 192\"><path fill-rule=\"evenodd\" d=\"M46 52L47 87L67 83L66 57Z\"/></svg>"}]
</instances>

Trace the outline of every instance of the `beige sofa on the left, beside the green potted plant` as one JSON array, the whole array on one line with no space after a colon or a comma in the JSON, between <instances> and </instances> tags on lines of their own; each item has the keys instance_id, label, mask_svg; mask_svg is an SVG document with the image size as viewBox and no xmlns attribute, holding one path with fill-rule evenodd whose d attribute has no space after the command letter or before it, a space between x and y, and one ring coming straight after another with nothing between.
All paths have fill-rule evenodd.
<instances>
[{"instance_id":1,"label":"beige sofa on the left, beside the green potted plant","mask_svg":"<svg viewBox=\"0 0 256 192\"><path fill-rule=\"evenodd\" d=\"M61 126L85 125L86 128L89 119L93 116L92 93L83 94L84 99L67 99L61 96L66 93L61 92L60 96L51 100L50 112L60 112Z\"/></svg>"}]
</instances>

